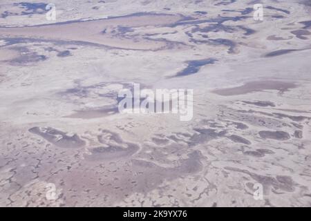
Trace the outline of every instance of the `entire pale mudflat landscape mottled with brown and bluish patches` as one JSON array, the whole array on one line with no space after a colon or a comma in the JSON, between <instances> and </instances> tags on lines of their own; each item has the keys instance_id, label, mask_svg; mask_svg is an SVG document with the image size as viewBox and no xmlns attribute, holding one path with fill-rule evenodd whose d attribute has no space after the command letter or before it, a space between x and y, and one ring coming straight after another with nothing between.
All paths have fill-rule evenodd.
<instances>
[{"instance_id":1,"label":"entire pale mudflat landscape mottled with brown and bluish patches","mask_svg":"<svg viewBox=\"0 0 311 221\"><path fill-rule=\"evenodd\" d=\"M53 3L0 2L0 206L311 206L310 1ZM120 114L133 82L194 118Z\"/></svg>"}]
</instances>

